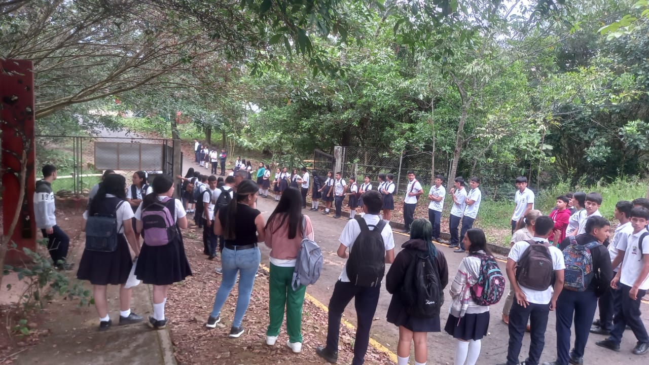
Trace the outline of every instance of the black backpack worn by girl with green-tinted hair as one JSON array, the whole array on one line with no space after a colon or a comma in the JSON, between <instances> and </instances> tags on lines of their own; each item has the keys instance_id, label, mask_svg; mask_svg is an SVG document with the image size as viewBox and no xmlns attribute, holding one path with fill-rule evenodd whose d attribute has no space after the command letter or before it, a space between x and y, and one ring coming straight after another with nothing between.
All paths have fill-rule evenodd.
<instances>
[{"instance_id":1,"label":"black backpack worn by girl with green-tinted hair","mask_svg":"<svg viewBox=\"0 0 649 365\"><path fill-rule=\"evenodd\" d=\"M406 269L400 297L406 312L415 318L435 318L444 303L444 289L439 279L437 259L419 251Z\"/></svg>"}]
</instances>

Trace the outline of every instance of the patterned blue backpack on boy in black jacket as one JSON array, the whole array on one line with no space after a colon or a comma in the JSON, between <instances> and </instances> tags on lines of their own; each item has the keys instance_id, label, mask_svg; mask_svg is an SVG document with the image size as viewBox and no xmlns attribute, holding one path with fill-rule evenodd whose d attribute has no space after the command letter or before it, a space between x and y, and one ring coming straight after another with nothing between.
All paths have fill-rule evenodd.
<instances>
[{"instance_id":1,"label":"patterned blue backpack on boy in black jacket","mask_svg":"<svg viewBox=\"0 0 649 365\"><path fill-rule=\"evenodd\" d=\"M563 261L566 265L563 271L563 288L572 292L584 292L595 276L591 249L599 242L580 245L574 236L569 236L569 239L570 245L563 249Z\"/></svg>"}]
</instances>

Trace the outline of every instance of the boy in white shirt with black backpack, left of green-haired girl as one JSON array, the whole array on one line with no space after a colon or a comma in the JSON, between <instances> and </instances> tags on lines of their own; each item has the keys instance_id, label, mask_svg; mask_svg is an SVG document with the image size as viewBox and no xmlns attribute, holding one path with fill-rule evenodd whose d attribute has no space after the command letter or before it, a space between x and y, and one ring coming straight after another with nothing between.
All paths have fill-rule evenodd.
<instances>
[{"instance_id":1,"label":"boy in white shirt with black backpack, left of green-haired girl","mask_svg":"<svg viewBox=\"0 0 649 365\"><path fill-rule=\"evenodd\" d=\"M363 212L365 215L358 220L365 220L369 228L376 227L380 224L381 218L378 216L382 206L382 197L379 192L370 190L363 194ZM345 225L345 229L340 234L340 246L337 255L341 258L348 258L347 253L354 249L354 241L361 233L358 220L350 220ZM385 262L391 264L395 260L395 241L392 229L389 223L385 223L381 237L386 249ZM347 264L343 266L343 271L338 277L329 301L328 327L326 336L326 346L318 346L315 352L328 362L336 362L338 359L338 336L340 333L340 320L345 311L347 304L354 298L356 305L356 316L358 318L358 327L354 337L354 359L352 365L362 365L365 362L365 353L369 344L369 330L372 327L374 312L378 305L378 297L381 292L381 285L376 286L357 286L350 283L347 277Z\"/></svg>"}]
</instances>

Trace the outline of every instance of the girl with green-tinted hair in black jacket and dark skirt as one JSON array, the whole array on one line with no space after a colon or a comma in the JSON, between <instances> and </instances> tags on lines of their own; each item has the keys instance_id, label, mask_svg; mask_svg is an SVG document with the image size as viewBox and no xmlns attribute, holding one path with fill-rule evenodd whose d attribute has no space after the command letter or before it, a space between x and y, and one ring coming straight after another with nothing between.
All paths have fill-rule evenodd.
<instances>
[{"instance_id":1,"label":"girl with green-tinted hair in black jacket and dark skirt","mask_svg":"<svg viewBox=\"0 0 649 365\"><path fill-rule=\"evenodd\" d=\"M437 271L439 281L437 292L443 295L443 290L448 284L448 265L444 254L435 249L430 237L432 225L428 220L418 219L410 226L410 240L406 241L403 248L395 257L395 262L386 274L386 289L392 294L390 306L387 309L387 321L397 325L399 339L397 346L397 365L407 365L410 358L410 344L415 345L415 365L425 365L428 359L426 336L429 332L441 331L439 312L430 318L419 318L408 314L410 308L404 303L400 289L411 284L406 280L411 279L406 275L408 268L417 260L425 257L430 260L433 270ZM441 307L441 304L440 304ZM439 308L437 308L439 309Z\"/></svg>"}]
</instances>

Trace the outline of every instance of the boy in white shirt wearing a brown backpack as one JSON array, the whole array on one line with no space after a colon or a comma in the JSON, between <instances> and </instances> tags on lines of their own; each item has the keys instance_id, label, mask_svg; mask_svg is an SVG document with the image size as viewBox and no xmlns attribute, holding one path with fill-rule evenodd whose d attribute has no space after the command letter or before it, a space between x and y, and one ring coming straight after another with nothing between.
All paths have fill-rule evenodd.
<instances>
[{"instance_id":1,"label":"boy in white shirt wearing a brown backpack","mask_svg":"<svg viewBox=\"0 0 649 365\"><path fill-rule=\"evenodd\" d=\"M545 277L539 273L546 270L546 266L522 266L525 264L524 261L532 262L532 260L524 260L531 256L532 246L528 241L516 242L509 250L507 259L507 276L514 288L515 300L509 311L509 346L506 365L519 364L520 347L528 319L530 320L530 352L525 364L539 364L545 346L548 313L556 308L557 297L563 290L563 270L565 269L563 254L548 242L554 221L548 216L541 216L537 218L534 227L535 232L532 240L535 245L544 245L547 250L548 260L551 260L552 271L554 271L554 287L550 280L546 282L547 288L545 288L546 283L539 283L539 285L543 284L545 288L542 290L527 288L519 284L525 277L536 277L537 275ZM515 271L525 271L527 275L517 275ZM543 273L545 274L545 271Z\"/></svg>"}]
</instances>

